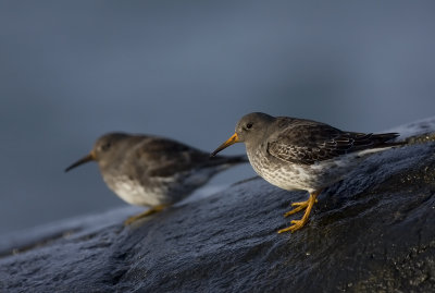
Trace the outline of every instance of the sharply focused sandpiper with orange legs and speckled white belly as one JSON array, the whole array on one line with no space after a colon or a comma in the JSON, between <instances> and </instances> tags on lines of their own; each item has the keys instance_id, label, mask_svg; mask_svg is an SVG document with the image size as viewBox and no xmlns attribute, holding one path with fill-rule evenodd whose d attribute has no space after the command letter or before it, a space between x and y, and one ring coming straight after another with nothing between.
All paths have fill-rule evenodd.
<instances>
[{"instance_id":1,"label":"sharply focused sandpiper with orange legs and speckled white belly","mask_svg":"<svg viewBox=\"0 0 435 293\"><path fill-rule=\"evenodd\" d=\"M243 117L236 133L211 156L235 143L245 143L249 161L260 176L287 191L308 191L309 199L294 203L295 208L284 215L304 209L303 217L278 231L294 232L307 223L323 188L341 180L370 154L401 145L390 142L397 136L345 132L311 120L256 112Z\"/></svg>"}]
</instances>

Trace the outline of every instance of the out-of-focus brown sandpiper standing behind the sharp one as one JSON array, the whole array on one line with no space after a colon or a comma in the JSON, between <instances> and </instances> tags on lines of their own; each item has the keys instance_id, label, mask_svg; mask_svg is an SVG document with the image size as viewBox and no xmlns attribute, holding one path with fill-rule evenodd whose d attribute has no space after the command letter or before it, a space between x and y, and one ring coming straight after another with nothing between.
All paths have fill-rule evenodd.
<instances>
[{"instance_id":1,"label":"out-of-focus brown sandpiper standing behind the sharp one","mask_svg":"<svg viewBox=\"0 0 435 293\"><path fill-rule=\"evenodd\" d=\"M184 199L217 172L248 159L245 155L210 159L208 152L172 139L109 133L65 172L88 161L97 161L104 182L122 199L150 207L128 218L128 224Z\"/></svg>"}]
</instances>

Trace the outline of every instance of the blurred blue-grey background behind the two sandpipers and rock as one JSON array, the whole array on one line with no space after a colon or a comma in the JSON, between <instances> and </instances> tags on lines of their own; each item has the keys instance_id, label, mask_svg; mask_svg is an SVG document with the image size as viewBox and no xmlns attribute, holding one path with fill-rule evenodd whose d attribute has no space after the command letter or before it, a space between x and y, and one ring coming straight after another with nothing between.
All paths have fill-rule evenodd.
<instances>
[{"instance_id":1,"label":"blurred blue-grey background behind the two sandpipers and rock","mask_svg":"<svg viewBox=\"0 0 435 293\"><path fill-rule=\"evenodd\" d=\"M433 1L1 1L0 234L126 205L95 163L63 172L109 131L211 151L251 111L361 132L433 115L434 16Z\"/></svg>"}]
</instances>

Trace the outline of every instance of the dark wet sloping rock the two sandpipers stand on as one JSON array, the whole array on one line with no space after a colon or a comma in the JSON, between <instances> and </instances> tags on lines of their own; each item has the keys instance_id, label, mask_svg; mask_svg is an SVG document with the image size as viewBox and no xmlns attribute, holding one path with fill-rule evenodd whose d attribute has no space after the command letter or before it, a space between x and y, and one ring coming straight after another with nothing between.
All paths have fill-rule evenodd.
<instances>
[{"instance_id":1,"label":"dark wet sloping rock the two sandpipers stand on","mask_svg":"<svg viewBox=\"0 0 435 293\"><path fill-rule=\"evenodd\" d=\"M307 194L253 179L128 228L135 208L3 237L0 292L434 292L434 121L326 190L293 234L276 231Z\"/></svg>"}]
</instances>

